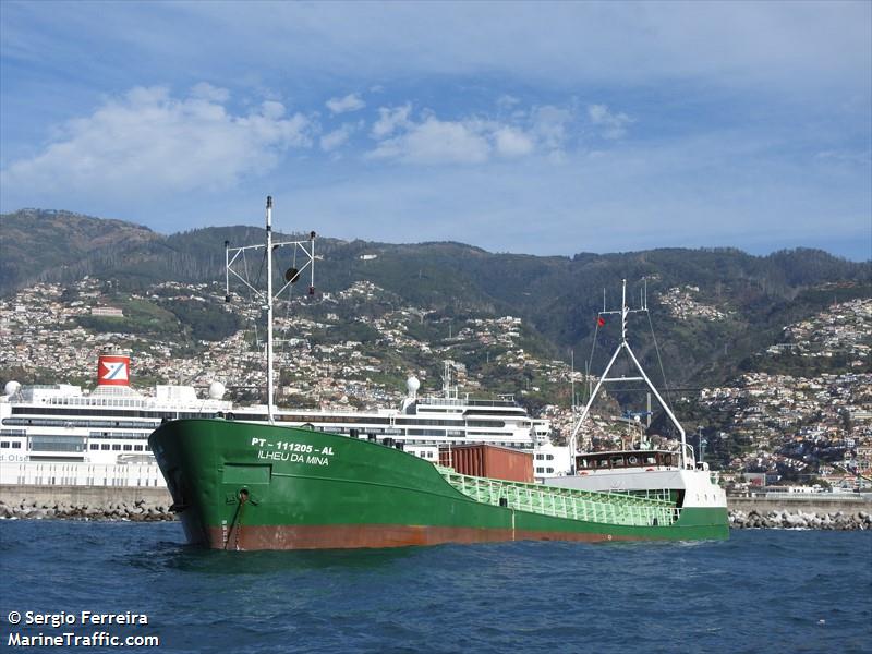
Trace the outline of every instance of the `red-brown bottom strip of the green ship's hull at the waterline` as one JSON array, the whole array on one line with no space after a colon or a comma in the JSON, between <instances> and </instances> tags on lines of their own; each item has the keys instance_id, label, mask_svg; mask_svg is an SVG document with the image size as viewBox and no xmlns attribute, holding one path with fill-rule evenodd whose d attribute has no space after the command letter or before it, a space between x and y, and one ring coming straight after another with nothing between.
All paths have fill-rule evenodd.
<instances>
[{"instance_id":1,"label":"red-brown bottom strip of the green ship's hull at the waterline","mask_svg":"<svg viewBox=\"0 0 872 654\"><path fill-rule=\"evenodd\" d=\"M510 529L456 526L367 525L244 525L225 531L209 528L207 545L213 549L352 549L409 547L443 543L502 543L506 541L576 541L598 543L633 541L632 536Z\"/></svg>"}]
</instances>

